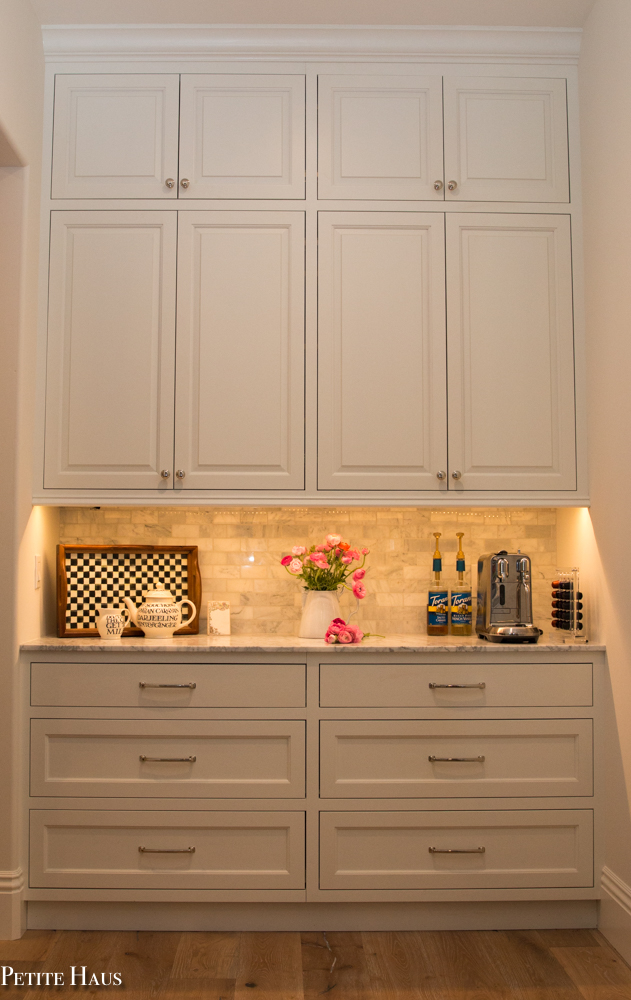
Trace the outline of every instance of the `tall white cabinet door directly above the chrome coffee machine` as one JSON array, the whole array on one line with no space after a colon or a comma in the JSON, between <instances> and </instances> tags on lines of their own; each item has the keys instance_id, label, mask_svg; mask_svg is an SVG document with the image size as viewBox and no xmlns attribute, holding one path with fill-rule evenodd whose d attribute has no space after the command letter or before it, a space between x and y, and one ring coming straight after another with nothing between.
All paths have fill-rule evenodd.
<instances>
[{"instance_id":1,"label":"tall white cabinet door directly above the chrome coffee machine","mask_svg":"<svg viewBox=\"0 0 631 1000\"><path fill-rule=\"evenodd\" d=\"M569 217L448 215L447 323L450 488L576 489Z\"/></svg>"}]
</instances>

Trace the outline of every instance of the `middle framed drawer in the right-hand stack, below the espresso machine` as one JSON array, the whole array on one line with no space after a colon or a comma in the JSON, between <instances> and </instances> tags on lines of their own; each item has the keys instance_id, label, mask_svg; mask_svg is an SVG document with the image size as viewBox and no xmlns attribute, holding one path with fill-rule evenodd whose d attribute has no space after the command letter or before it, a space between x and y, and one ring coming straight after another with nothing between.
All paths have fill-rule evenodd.
<instances>
[{"instance_id":1,"label":"middle framed drawer in the right-hand stack, below the espresso machine","mask_svg":"<svg viewBox=\"0 0 631 1000\"><path fill-rule=\"evenodd\" d=\"M323 797L523 797L593 791L591 719L336 720L322 721L320 727Z\"/></svg>"}]
</instances>

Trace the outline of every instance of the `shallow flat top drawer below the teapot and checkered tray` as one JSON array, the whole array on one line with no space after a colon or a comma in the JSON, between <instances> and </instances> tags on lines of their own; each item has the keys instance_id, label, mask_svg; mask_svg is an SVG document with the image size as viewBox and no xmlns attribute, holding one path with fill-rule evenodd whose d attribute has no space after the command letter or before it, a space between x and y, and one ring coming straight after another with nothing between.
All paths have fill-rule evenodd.
<instances>
[{"instance_id":1,"label":"shallow flat top drawer below the teapot and checkered tray","mask_svg":"<svg viewBox=\"0 0 631 1000\"><path fill-rule=\"evenodd\" d=\"M51 708L303 708L305 669L304 663L33 663L31 704Z\"/></svg>"}]
</instances>

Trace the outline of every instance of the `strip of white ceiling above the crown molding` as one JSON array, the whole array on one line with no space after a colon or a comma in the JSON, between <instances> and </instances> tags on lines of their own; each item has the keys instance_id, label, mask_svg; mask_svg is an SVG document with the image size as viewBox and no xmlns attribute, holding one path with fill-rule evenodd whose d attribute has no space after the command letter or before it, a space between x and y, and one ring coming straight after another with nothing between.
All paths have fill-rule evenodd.
<instances>
[{"instance_id":1,"label":"strip of white ceiling above the crown molding","mask_svg":"<svg viewBox=\"0 0 631 1000\"><path fill-rule=\"evenodd\" d=\"M582 27L594 0L31 0L42 24Z\"/></svg>"}]
</instances>

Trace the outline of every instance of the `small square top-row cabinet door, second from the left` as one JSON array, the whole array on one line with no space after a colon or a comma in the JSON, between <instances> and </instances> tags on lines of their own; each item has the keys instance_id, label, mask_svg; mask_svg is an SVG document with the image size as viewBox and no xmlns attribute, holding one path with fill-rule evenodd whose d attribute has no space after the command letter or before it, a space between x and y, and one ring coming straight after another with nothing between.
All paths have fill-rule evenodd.
<instances>
[{"instance_id":1,"label":"small square top-row cabinet door, second from the left","mask_svg":"<svg viewBox=\"0 0 631 1000\"><path fill-rule=\"evenodd\" d=\"M179 195L304 198L304 76L183 74Z\"/></svg>"}]
</instances>

